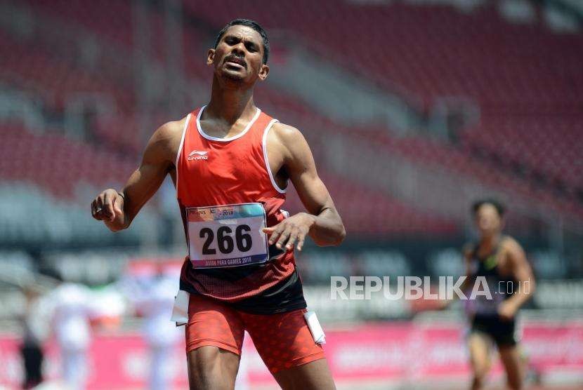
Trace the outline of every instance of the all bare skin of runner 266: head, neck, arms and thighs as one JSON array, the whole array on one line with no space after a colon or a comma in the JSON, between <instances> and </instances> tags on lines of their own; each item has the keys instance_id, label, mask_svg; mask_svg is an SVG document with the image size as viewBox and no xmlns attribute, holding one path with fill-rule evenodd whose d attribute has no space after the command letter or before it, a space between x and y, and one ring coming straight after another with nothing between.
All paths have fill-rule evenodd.
<instances>
[{"instance_id":1,"label":"all bare skin of runner 266: head, neck, arms and thighs","mask_svg":"<svg viewBox=\"0 0 583 390\"><path fill-rule=\"evenodd\" d=\"M211 100L200 118L205 133L213 137L240 134L256 112L253 88L269 73L263 63L263 39L254 29L229 27L216 48L209 49L207 65L214 75ZM176 156L186 118L160 126L148 141L139 168L121 191L106 189L91 203L91 214L112 231L130 226L166 175L176 186ZM290 180L306 207L264 231L279 248L301 250L309 235L319 246L338 245L346 236L339 213L320 177L312 152L301 132L275 123L268 133L267 154L273 177L280 187ZM232 389L239 356L218 347L199 347L188 354L190 389ZM283 389L334 389L325 359L282 370L274 375Z\"/></svg>"}]
</instances>

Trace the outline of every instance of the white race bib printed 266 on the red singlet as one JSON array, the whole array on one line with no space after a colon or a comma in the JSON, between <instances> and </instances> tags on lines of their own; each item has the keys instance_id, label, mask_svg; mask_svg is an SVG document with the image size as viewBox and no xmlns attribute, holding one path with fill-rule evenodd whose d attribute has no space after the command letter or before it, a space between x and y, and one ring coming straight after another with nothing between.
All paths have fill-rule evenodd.
<instances>
[{"instance_id":1,"label":"white race bib printed 266 on the red singlet","mask_svg":"<svg viewBox=\"0 0 583 390\"><path fill-rule=\"evenodd\" d=\"M192 267L237 267L268 260L261 203L187 208L186 216Z\"/></svg>"}]
</instances>

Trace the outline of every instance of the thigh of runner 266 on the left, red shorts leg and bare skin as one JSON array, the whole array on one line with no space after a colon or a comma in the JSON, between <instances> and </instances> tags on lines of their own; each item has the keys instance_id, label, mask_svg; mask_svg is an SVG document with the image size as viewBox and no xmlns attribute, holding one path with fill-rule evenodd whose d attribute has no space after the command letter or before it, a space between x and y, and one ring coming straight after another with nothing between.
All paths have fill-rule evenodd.
<instances>
[{"instance_id":1,"label":"thigh of runner 266 on the left, red shorts leg and bare skin","mask_svg":"<svg viewBox=\"0 0 583 390\"><path fill-rule=\"evenodd\" d=\"M233 389L244 335L237 311L191 295L185 335L190 389Z\"/></svg>"}]
</instances>

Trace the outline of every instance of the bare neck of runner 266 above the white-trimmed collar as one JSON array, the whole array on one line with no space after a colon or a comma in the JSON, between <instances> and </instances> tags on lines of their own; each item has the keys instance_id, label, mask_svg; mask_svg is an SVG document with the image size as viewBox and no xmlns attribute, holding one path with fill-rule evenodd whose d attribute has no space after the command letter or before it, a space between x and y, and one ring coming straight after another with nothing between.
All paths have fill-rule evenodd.
<instances>
[{"instance_id":1,"label":"bare neck of runner 266 above the white-trimmed collar","mask_svg":"<svg viewBox=\"0 0 583 390\"><path fill-rule=\"evenodd\" d=\"M224 81L213 76L211 101L204 109L204 114L212 118L223 119L233 124L242 116L252 116L256 111L253 102L253 87L232 88Z\"/></svg>"}]
</instances>

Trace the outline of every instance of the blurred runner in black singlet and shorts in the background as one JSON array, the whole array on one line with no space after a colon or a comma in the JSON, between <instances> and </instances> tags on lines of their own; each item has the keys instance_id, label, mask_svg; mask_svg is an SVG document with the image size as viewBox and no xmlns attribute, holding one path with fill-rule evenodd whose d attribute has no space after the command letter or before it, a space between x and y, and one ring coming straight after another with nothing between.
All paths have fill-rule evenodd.
<instances>
[{"instance_id":1,"label":"blurred runner in black singlet and shorts in the background","mask_svg":"<svg viewBox=\"0 0 583 390\"><path fill-rule=\"evenodd\" d=\"M491 199L472 206L480 239L464 249L469 285L478 276L485 278L492 300L479 295L467 302L471 323L468 346L473 381L471 389L482 389L490 370L492 344L498 347L510 389L523 386L523 363L518 347L516 314L535 291L535 278L523 248L514 238L502 235L502 203Z\"/></svg>"}]
</instances>

